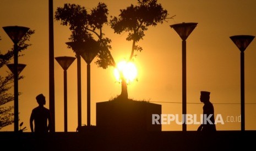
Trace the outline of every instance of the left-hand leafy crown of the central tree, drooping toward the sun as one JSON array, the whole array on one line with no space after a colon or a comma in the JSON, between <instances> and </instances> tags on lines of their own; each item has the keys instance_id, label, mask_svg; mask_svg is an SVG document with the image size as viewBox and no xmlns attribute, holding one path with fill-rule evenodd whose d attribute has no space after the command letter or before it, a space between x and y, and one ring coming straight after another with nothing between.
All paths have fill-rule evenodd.
<instances>
[{"instance_id":1,"label":"left-hand leafy crown of the central tree, drooping toward the sun","mask_svg":"<svg viewBox=\"0 0 256 151\"><path fill-rule=\"evenodd\" d=\"M102 32L102 27L107 24L107 15L105 3L99 3L90 14L85 7L77 4L64 4L64 7L58 7L55 12L55 20L61 21L61 25L69 26L72 32L69 40L88 43L97 41L99 50L95 50L98 51L95 63L104 69L115 63L110 54L111 39L104 37L105 34ZM94 39L95 36L97 39Z\"/></svg>"}]
</instances>

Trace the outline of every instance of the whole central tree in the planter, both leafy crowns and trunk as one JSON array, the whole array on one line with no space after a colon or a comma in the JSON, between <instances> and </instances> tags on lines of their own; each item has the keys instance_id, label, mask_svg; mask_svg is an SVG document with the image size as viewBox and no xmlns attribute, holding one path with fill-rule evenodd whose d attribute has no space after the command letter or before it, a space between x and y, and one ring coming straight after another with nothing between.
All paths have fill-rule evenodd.
<instances>
[{"instance_id":1,"label":"whole central tree in the planter, both leafy crowns and trunk","mask_svg":"<svg viewBox=\"0 0 256 151\"><path fill-rule=\"evenodd\" d=\"M156 0L138 0L138 5L131 4L127 9L122 9L121 14L118 17L113 17L110 22L108 22L107 16L108 9L105 3L99 3L96 8L91 10L90 14L84 7L76 4L64 4L64 7L57 8L55 13L55 19L60 20L61 25L70 26L69 29L72 34L69 40L80 43L86 42L88 49L95 49L96 47L90 47L90 45L97 42L99 53L97 53L97 61L95 63L104 69L108 66L116 66L115 60L110 53L111 39L104 38L105 34L102 32L104 24L110 24L115 33L128 32L127 40L133 41L129 57L129 60L132 60L134 51L143 50L136 43L143 39L145 36L144 31L148 30L149 26L162 24L167 19L167 10L164 10L161 4L157 4ZM94 36L98 39L95 40ZM128 99L127 83L122 74L121 78L122 91L119 97Z\"/></svg>"}]
</instances>

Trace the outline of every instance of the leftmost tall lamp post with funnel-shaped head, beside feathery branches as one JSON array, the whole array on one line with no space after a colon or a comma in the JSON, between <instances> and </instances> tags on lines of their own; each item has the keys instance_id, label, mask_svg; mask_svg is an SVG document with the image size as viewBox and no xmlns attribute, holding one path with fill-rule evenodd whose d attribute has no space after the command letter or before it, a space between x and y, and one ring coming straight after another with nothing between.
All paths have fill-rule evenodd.
<instances>
[{"instance_id":1,"label":"leftmost tall lamp post with funnel-shaped head, beside feathery branches","mask_svg":"<svg viewBox=\"0 0 256 151\"><path fill-rule=\"evenodd\" d=\"M18 43L29 31L28 27L22 26L6 26L3 30L8 34L10 39L14 43L14 65L13 65L13 76L14 76L14 132L19 131L19 103L18 103Z\"/></svg>"}]
</instances>

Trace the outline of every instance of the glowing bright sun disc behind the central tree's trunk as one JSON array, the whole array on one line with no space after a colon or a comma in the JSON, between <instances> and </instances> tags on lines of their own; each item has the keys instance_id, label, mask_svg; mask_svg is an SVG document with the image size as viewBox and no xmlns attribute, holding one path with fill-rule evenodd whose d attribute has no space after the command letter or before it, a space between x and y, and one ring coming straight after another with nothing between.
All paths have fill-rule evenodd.
<instances>
[{"instance_id":1,"label":"glowing bright sun disc behind the central tree's trunk","mask_svg":"<svg viewBox=\"0 0 256 151\"><path fill-rule=\"evenodd\" d=\"M137 68L133 62L121 61L117 63L117 67L114 69L114 75L118 82L122 82L121 75L127 83L133 82L137 77Z\"/></svg>"}]
</instances>

